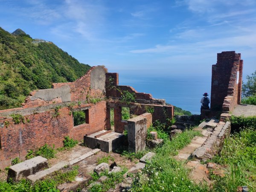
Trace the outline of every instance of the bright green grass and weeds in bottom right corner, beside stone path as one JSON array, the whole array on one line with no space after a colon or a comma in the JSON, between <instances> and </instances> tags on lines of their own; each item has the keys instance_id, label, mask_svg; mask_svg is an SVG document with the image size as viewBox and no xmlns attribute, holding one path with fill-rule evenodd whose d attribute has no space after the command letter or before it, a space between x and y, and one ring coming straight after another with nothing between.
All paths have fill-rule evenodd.
<instances>
[{"instance_id":1,"label":"bright green grass and weeds in bottom right corner, beside stone path","mask_svg":"<svg viewBox=\"0 0 256 192\"><path fill-rule=\"evenodd\" d=\"M256 189L256 130L246 128L224 140L213 162L227 166L224 178L216 178L215 191L236 192L237 186Z\"/></svg>"}]
</instances>

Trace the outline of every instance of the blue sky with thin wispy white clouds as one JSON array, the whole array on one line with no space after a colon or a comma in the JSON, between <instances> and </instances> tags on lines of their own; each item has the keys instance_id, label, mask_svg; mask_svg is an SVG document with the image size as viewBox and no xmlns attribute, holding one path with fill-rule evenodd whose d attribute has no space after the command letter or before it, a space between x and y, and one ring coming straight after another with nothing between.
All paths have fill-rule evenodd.
<instances>
[{"instance_id":1,"label":"blue sky with thin wispy white clouds","mask_svg":"<svg viewBox=\"0 0 256 192\"><path fill-rule=\"evenodd\" d=\"M210 76L232 50L256 70L255 0L0 0L0 26L121 74Z\"/></svg>"}]
</instances>

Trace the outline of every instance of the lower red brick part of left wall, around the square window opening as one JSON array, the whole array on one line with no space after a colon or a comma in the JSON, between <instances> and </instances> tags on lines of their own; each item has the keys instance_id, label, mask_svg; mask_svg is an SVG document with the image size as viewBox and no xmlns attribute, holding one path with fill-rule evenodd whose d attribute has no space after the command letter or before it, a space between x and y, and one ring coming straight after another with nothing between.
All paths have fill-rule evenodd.
<instances>
[{"instance_id":1,"label":"lower red brick part of left wall, around the square window opening","mask_svg":"<svg viewBox=\"0 0 256 192\"><path fill-rule=\"evenodd\" d=\"M94 104L84 104L74 106L74 108L90 107L89 108L89 124L82 124L73 127L73 116L70 115L69 108L59 109L59 116L52 116L53 109L44 113L31 114L24 116L25 119L30 119L30 122L25 124L20 123L15 125L12 119L4 119L10 124L0 128L0 169L4 169L11 164L11 160L15 157L20 157L24 160L27 150L41 147L45 143L56 148L62 147L64 137L69 135L76 140L83 140L85 134L90 134L96 130L103 130L106 127L106 101Z\"/></svg>"}]
</instances>

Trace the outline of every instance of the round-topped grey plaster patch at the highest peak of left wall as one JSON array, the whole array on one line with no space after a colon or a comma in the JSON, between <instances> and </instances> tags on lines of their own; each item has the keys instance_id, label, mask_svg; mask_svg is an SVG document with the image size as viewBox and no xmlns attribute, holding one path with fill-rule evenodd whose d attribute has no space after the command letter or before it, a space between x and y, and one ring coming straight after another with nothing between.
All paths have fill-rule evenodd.
<instances>
[{"instance_id":1,"label":"round-topped grey plaster patch at the highest peak of left wall","mask_svg":"<svg viewBox=\"0 0 256 192\"><path fill-rule=\"evenodd\" d=\"M106 71L101 66L94 67L90 76L90 87L106 91Z\"/></svg>"}]
</instances>

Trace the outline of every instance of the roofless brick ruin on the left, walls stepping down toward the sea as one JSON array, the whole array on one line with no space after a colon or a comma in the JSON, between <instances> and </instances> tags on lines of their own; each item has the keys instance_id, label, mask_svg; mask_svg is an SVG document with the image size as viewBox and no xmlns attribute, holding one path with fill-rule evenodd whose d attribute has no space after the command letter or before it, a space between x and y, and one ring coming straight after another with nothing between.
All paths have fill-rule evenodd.
<instances>
[{"instance_id":1,"label":"roofless brick ruin on the left, walls stepping down toward the sea","mask_svg":"<svg viewBox=\"0 0 256 192\"><path fill-rule=\"evenodd\" d=\"M120 102L124 91L133 93L135 102ZM122 107L137 116L154 108L150 116L153 121L166 122L174 116L173 105L119 85L118 73L108 73L103 66L91 67L74 82L54 83L52 89L31 92L21 108L0 111L0 169L10 166L15 157L24 160L29 149L44 144L62 147L65 136L81 141L86 134L110 130L111 109L114 131L122 133L128 127L128 122L122 120ZM84 111L85 123L74 126L73 111ZM12 114L20 114L19 123Z\"/></svg>"}]
</instances>

